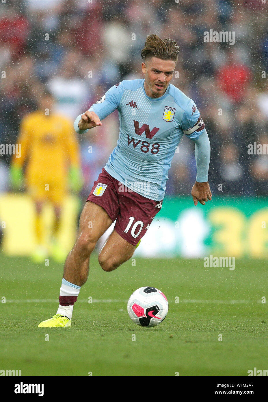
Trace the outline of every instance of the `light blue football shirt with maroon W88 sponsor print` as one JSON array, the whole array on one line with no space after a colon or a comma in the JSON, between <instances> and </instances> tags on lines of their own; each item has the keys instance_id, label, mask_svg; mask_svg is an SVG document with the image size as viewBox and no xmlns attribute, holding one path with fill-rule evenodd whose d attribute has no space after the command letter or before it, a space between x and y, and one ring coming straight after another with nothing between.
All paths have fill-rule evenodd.
<instances>
[{"instance_id":1,"label":"light blue football shirt with maroon W88 sponsor print","mask_svg":"<svg viewBox=\"0 0 268 402\"><path fill-rule=\"evenodd\" d=\"M181 137L185 133L196 140L205 131L200 113L193 100L172 84L160 98L150 98L144 90L144 79L114 85L89 111L103 120L116 109L119 139L105 170L132 191L160 201ZM81 115L75 120L75 130L88 131L79 130L80 119Z\"/></svg>"}]
</instances>

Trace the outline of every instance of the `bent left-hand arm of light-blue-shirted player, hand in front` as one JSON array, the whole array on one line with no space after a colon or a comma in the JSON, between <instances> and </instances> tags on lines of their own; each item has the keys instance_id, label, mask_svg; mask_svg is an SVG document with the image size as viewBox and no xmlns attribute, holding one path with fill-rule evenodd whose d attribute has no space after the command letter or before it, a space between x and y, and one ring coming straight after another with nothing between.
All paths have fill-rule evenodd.
<instances>
[{"instance_id":1,"label":"bent left-hand arm of light-blue-shirted player, hand in front","mask_svg":"<svg viewBox=\"0 0 268 402\"><path fill-rule=\"evenodd\" d=\"M73 124L75 131L81 134L93 127L101 126L101 120L120 107L123 87L123 83L112 86L89 110L77 116Z\"/></svg>"}]
</instances>

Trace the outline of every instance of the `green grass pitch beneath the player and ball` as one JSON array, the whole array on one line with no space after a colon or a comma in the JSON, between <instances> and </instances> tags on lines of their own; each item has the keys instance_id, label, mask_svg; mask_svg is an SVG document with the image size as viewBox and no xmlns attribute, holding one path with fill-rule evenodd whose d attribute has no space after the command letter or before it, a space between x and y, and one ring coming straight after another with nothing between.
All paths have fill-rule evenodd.
<instances>
[{"instance_id":1,"label":"green grass pitch beneath the player and ball","mask_svg":"<svg viewBox=\"0 0 268 402\"><path fill-rule=\"evenodd\" d=\"M248 375L254 367L268 369L267 305L260 303L268 296L267 261L236 259L229 271L204 268L203 259L136 258L136 267L130 260L106 273L93 256L71 328L56 329L37 325L57 311L62 266L2 254L0 260L0 301L6 297L0 303L0 369L106 376ZM132 323L126 311L132 291L147 285L169 300L166 319L154 328ZM119 301L89 304L89 296ZM55 302L12 302L26 299Z\"/></svg>"}]
</instances>

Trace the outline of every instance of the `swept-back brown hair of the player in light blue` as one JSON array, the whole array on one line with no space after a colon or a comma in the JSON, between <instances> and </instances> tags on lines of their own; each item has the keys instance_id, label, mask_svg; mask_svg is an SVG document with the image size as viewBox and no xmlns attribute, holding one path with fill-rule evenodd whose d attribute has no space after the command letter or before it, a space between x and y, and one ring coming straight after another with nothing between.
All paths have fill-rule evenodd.
<instances>
[{"instance_id":1,"label":"swept-back brown hair of the player in light blue","mask_svg":"<svg viewBox=\"0 0 268 402\"><path fill-rule=\"evenodd\" d=\"M180 47L173 39L160 39L157 35L147 36L141 51L143 62L147 57L158 57L162 60L172 60L177 63Z\"/></svg>"}]
</instances>

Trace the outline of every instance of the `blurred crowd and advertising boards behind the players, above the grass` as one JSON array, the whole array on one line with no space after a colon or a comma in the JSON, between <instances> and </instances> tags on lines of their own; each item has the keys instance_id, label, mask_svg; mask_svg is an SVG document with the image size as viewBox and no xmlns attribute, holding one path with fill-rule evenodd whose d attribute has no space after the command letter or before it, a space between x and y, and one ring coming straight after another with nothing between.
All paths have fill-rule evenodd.
<instances>
[{"instance_id":1,"label":"blurred crowd and advertising boards behind the players, above the grass","mask_svg":"<svg viewBox=\"0 0 268 402\"><path fill-rule=\"evenodd\" d=\"M57 110L75 119L116 82L142 78L146 35L176 39L181 51L172 83L195 100L205 121L213 201L193 207L194 146L183 139L162 211L136 253L266 256L268 156L247 152L248 144L268 144L265 7L261 1L6 0L0 4L0 144L16 143L22 118L37 109L44 88L54 94ZM234 31L235 44L204 42L210 29ZM114 112L79 137L85 184L81 203L70 196L65 205L66 249L75 238L79 207L116 144L118 123ZM10 156L0 155L3 249L29 254L33 207L27 195L12 191L9 166ZM45 214L49 222L49 208Z\"/></svg>"}]
</instances>

